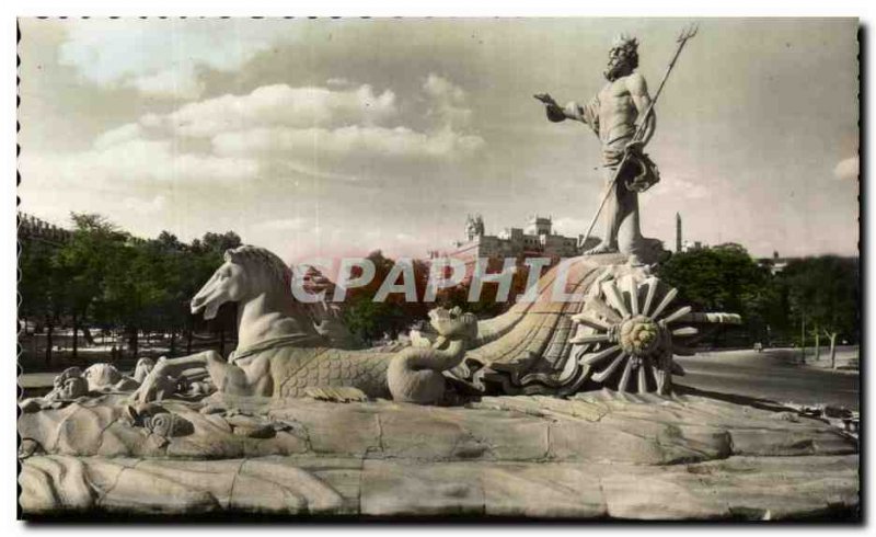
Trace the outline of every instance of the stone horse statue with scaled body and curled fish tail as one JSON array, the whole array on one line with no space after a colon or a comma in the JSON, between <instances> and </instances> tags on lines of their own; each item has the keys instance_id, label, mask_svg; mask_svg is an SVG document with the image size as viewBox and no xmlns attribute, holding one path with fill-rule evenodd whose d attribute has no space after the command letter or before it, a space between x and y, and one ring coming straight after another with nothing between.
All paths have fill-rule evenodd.
<instances>
[{"instance_id":1,"label":"stone horse statue with scaled body and curled fish tail","mask_svg":"<svg viewBox=\"0 0 876 537\"><path fill-rule=\"evenodd\" d=\"M327 346L292 297L289 268L274 253L253 245L224 253L224 263L192 299L192 312L212 319L226 302L239 305L238 347L229 359L216 351L160 359L134 392L138 402L172 393L175 377L204 367L216 388L229 396L391 397L438 403L446 392L442 372L459 365L476 335L472 315L436 308L429 318L438 335L429 347L377 352Z\"/></svg>"}]
</instances>

